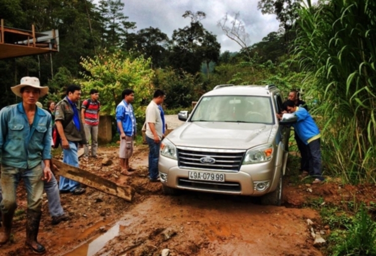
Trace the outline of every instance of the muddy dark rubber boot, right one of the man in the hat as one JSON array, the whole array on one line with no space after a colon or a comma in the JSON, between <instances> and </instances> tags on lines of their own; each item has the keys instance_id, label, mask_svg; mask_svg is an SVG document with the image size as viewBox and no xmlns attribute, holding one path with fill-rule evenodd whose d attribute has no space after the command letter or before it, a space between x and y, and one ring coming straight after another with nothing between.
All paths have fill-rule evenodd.
<instances>
[{"instance_id":1,"label":"muddy dark rubber boot, right one of the man in the hat","mask_svg":"<svg viewBox=\"0 0 376 256\"><path fill-rule=\"evenodd\" d=\"M28 220L26 223L26 245L29 246L34 253L38 254L46 252L46 248L37 240L41 216L42 212L28 209Z\"/></svg>"}]
</instances>

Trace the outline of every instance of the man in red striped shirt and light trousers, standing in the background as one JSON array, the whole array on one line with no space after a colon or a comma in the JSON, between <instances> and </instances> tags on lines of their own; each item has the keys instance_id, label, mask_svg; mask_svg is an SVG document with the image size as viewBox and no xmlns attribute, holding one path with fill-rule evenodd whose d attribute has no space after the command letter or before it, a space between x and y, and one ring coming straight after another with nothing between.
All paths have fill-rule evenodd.
<instances>
[{"instance_id":1,"label":"man in red striped shirt and light trousers, standing in the background","mask_svg":"<svg viewBox=\"0 0 376 256\"><path fill-rule=\"evenodd\" d=\"M91 137L91 156L97 157L98 149L98 125L100 102L98 101L99 93L96 89L91 89L90 99L84 100L81 106L82 123L85 127L86 141L84 145L84 159L89 158L89 139Z\"/></svg>"}]
</instances>

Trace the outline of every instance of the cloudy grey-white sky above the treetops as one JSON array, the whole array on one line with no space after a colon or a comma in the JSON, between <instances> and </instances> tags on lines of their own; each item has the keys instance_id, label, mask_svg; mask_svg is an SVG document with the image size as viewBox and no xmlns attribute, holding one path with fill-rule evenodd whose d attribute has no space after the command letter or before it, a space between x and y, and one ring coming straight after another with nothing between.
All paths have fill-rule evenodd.
<instances>
[{"instance_id":1,"label":"cloudy grey-white sky above the treetops","mask_svg":"<svg viewBox=\"0 0 376 256\"><path fill-rule=\"evenodd\" d=\"M96 3L97 1L94 1ZM221 52L236 52L240 46L227 38L217 26L226 13L234 17L240 12L240 20L245 24L246 32L250 35L248 45L260 42L269 33L278 31L279 22L275 15L263 15L257 9L258 0L122 0L125 4L124 14L128 21L136 22L135 32L144 28L159 28L168 38L173 30L181 29L190 24L190 18L183 18L185 11L206 13L202 20L204 28L214 35L221 44Z\"/></svg>"}]
</instances>

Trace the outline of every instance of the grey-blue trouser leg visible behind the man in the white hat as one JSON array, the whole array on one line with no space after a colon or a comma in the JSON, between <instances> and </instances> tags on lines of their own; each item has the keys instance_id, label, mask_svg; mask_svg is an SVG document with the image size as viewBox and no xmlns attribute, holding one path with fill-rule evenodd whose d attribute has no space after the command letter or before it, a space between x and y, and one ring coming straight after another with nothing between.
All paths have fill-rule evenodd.
<instances>
[{"instance_id":1,"label":"grey-blue trouser leg visible behind the man in the white hat","mask_svg":"<svg viewBox=\"0 0 376 256\"><path fill-rule=\"evenodd\" d=\"M43 162L42 162L42 168L43 168ZM61 207L58 182L55 176L52 175L50 182L44 181L43 183L44 183L44 189L47 194L48 208L50 209L51 216L58 217L58 216L63 215L64 210L63 210L63 207ZM3 200L2 187L0 186L0 202L2 200Z\"/></svg>"}]
</instances>

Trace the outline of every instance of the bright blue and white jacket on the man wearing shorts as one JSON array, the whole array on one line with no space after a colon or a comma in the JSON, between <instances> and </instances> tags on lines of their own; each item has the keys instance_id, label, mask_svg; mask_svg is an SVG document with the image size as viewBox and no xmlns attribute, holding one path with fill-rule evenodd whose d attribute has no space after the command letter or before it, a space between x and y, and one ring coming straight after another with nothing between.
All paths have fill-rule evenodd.
<instances>
[{"instance_id":1,"label":"bright blue and white jacket on the man wearing shorts","mask_svg":"<svg viewBox=\"0 0 376 256\"><path fill-rule=\"evenodd\" d=\"M132 121L133 120L133 121ZM134 116L133 107L122 100L116 107L116 123L121 122L125 135L133 136L136 133L136 117ZM117 128L119 131L119 127Z\"/></svg>"}]
</instances>

